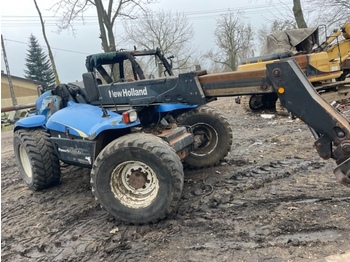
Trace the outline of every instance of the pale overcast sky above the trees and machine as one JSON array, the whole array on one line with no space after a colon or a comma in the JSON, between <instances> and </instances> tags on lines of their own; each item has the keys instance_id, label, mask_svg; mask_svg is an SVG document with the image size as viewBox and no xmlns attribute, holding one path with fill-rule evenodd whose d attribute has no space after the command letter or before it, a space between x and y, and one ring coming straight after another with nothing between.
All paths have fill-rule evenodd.
<instances>
[{"instance_id":1,"label":"pale overcast sky above the trees and machine","mask_svg":"<svg viewBox=\"0 0 350 262\"><path fill-rule=\"evenodd\" d=\"M46 34L52 48L60 81L63 83L80 81L86 72L85 58L89 54L100 53L101 42L98 38L95 10L86 15L85 24L75 23L75 34L69 31L57 32L58 17L49 8L57 0L37 0L46 25ZM254 31L269 18L285 9L291 9L292 0L158 0L149 6L153 11L171 10L184 12L193 25L193 45L199 53L214 48L214 31L217 19L225 12L241 10L245 22L249 22ZM2 0L1 34L4 39L6 55L11 75L23 77L29 36L33 34L47 53L42 36L40 20L32 0ZM121 21L117 20L115 35L123 33ZM132 49L129 46L117 46L117 49ZM1 70L6 73L3 52L1 52Z\"/></svg>"}]
</instances>

